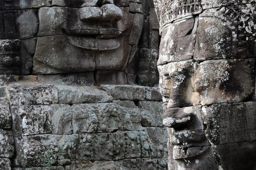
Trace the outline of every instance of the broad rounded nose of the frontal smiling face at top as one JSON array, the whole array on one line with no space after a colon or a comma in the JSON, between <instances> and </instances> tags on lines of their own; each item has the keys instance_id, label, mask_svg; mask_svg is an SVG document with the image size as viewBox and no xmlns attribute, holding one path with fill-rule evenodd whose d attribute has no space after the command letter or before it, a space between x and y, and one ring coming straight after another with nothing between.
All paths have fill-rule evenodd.
<instances>
[{"instance_id":1,"label":"broad rounded nose of the frontal smiling face at top","mask_svg":"<svg viewBox=\"0 0 256 170\"><path fill-rule=\"evenodd\" d=\"M104 4L99 7L83 7L79 9L81 20L100 20L116 22L122 19L122 10L115 4Z\"/></svg>"}]
</instances>

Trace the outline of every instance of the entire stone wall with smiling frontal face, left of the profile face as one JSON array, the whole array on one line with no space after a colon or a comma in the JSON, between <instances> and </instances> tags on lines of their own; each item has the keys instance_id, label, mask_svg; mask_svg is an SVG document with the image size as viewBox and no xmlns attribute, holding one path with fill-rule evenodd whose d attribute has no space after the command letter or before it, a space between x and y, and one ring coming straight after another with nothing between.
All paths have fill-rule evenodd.
<instances>
[{"instance_id":1,"label":"entire stone wall with smiling frontal face, left of the profile face","mask_svg":"<svg viewBox=\"0 0 256 170\"><path fill-rule=\"evenodd\" d=\"M153 0L0 0L0 169L167 170Z\"/></svg>"}]
</instances>

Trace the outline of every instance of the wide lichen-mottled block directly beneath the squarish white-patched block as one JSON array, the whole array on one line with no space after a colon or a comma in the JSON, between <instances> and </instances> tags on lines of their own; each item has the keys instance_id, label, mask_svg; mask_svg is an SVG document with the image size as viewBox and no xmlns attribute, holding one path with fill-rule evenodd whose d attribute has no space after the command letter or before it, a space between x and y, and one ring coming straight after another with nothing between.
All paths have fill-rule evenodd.
<instances>
[{"instance_id":1,"label":"wide lichen-mottled block directly beneath the squarish white-patched block","mask_svg":"<svg viewBox=\"0 0 256 170\"><path fill-rule=\"evenodd\" d=\"M65 166L71 163L71 142L67 135L18 137L15 144L13 167Z\"/></svg>"}]
</instances>

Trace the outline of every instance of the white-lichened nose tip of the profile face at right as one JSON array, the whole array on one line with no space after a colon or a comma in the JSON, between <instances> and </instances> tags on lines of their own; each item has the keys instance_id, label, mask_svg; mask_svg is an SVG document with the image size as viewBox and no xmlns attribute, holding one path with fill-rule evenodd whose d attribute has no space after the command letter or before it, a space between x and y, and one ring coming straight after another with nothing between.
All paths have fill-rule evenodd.
<instances>
[{"instance_id":1,"label":"white-lichened nose tip of the profile face at right","mask_svg":"<svg viewBox=\"0 0 256 170\"><path fill-rule=\"evenodd\" d=\"M163 124L168 128L179 128L192 121L193 114L182 108L168 108L164 112Z\"/></svg>"}]
</instances>

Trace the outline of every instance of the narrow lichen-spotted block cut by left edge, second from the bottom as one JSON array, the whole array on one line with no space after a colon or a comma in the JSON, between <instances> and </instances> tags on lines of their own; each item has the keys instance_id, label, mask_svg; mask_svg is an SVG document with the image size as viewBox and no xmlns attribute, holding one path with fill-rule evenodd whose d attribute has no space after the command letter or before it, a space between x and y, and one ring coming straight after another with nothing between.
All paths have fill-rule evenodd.
<instances>
[{"instance_id":1,"label":"narrow lichen-spotted block cut by left edge, second from the bottom","mask_svg":"<svg viewBox=\"0 0 256 170\"><path fill-rule=\"evenodd\" d=\"M11 130L0 129L0 157L13 158L14 156L14 140ZM5 162L5 161L4 161ZM8 162L7 162L8 163ZM0 161L0 168L2 163Z\"/></svg>"}]
</instances>

